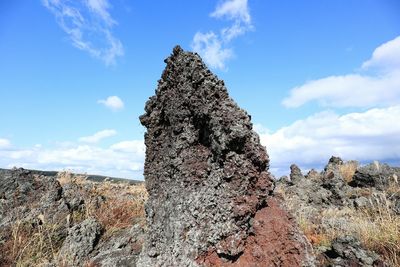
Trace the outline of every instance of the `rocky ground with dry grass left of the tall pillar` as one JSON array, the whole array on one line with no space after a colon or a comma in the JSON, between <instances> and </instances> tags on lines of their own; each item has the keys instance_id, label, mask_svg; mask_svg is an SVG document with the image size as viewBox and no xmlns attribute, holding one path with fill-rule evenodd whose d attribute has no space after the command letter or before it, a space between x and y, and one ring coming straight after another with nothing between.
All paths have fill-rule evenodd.
<instances>
[{"instance_id":1,"label":"rocky ground with dry grass left of the tall pillar","mask_svg":"<svg viewBox=\"0 0 400 267\"><path fill-rule=\"evenodd\" d=\"M0 266L132 266L143 243L143 184L0 171Z\"/></svg>"}]
</instances>

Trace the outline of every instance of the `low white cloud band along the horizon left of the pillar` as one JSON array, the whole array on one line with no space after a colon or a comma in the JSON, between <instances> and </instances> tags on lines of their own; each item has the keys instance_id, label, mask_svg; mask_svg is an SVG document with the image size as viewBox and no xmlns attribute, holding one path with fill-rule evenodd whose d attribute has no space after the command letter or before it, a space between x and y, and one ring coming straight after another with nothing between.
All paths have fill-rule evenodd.
<instances>
[{"instance_id":1,"label":"low white cloud band along the horizon left of the pillar","mask_svg":"<svg viewBox=\"0 0 400 267\"><path fill-rule=\"evenodd\" d=\"M143 140L128 140L102 148L72 144L55 148L32 147L0 150L0 166L39 170L72 170L79 173L143 179Z\"/></svg>"}]
</instances>

